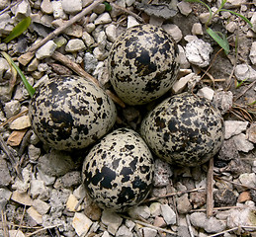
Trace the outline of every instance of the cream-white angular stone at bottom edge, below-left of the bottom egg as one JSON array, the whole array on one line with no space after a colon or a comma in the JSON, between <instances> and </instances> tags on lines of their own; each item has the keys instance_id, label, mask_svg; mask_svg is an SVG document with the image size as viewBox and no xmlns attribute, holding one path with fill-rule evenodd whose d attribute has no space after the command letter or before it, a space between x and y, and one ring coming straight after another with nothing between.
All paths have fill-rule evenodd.
<instances>
[{"instance_id":1,"label":"cream-white angular stone at bottom edge, below-left of the bottom egg","mask_svg":"<svg viewBox=\"0 0 256 237\"><path fill-rule=\"evenodd\" d=\"M83 213L75 212L72 226L78 236L85 236L93 222Z\"/></svg>"}]
</instances>

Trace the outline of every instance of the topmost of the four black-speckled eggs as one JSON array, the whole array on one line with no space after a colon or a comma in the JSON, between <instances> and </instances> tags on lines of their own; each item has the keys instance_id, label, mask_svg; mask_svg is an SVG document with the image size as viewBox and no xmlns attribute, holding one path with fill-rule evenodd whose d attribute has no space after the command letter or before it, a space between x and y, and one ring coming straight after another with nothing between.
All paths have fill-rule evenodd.
<instances>
[{"instance_id":1,"label":"topmost of the four black-speckled eggs","mask_svg":"<svg viewBox=\"0 0 256 237\"><path fill-rule=\"evenodd\" d=\"M114 90L128 105L159 98L176 81L178 54L176 42L162 28L129 28L110 50L108 68Z\"/></svg>"}]
</instances>

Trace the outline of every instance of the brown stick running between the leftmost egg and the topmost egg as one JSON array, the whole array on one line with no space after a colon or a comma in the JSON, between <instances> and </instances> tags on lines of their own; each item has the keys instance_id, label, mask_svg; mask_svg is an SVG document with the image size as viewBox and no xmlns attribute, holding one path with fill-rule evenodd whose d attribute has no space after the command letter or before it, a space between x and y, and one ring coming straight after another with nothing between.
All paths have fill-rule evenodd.
<instances>
[{"instance_id":1,"label":"brown stick running between the leftmost egg and the topmost egg","mask_svg":"<svg viewBox=\"0 0 256 237\"><path fill-rule=\"evenodd\" d=\"M71 59L69 59L67 56L63 55L62 53L55 51L53 52L53 54L51 55L51 57L57 61L60 61L62 64L64 64L65 66L67 66L68 68L70 68L72 71L74 71L75 73L77 73L79 76L83 76L89 80L91 80L93 83L95 83L98 87L100 87L100 84L98 82L98 80L91 76L89 73L87 73L85 70L83 70L83 68L78 65L77 63L73 62ZM122 108L125 108L126 105L125 103L118 98L116 95L114 95L111 91L106 90L105 91L110 97L111 99L116 102L118 105L120 105Z\"/></svg>"}]
</instances>

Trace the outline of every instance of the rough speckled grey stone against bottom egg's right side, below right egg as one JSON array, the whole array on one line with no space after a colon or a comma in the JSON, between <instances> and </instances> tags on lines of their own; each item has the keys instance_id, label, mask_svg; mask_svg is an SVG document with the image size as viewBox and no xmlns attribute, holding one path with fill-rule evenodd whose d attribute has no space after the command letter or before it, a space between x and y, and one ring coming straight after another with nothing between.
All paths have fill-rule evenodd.
<instances>
[{"instance_id":1,"label":"rough speckled grey stone against bottom egg's right side, below right egg","mask_svg":"<svg viewBox=\"0 0 256 237\"><path fill-rule=\"evenodd\" d=\"M155 160L155 172L153 183L155 187L164 187L169 185L170 178L173 175L170 165L160 159Z\"/></svg>"}]
</instances>

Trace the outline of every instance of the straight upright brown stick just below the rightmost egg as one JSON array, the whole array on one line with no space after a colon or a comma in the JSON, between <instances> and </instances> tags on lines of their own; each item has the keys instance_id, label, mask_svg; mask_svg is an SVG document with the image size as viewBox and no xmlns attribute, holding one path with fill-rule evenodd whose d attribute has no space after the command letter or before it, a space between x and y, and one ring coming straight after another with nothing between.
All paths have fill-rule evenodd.
<instances>
[{"instance_id":1,"label":"straight upright brown stick just below the rightmost egg","mask_svg":"<svg viewBox=\"0 0 256 237\"><path fill-rule=\"evenodd\" d=\"M210 217L213 215L213 158L209 161L207 181L207 216Z\"/></svg>"}]
</instances>

